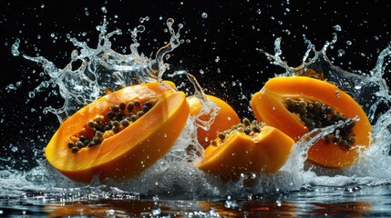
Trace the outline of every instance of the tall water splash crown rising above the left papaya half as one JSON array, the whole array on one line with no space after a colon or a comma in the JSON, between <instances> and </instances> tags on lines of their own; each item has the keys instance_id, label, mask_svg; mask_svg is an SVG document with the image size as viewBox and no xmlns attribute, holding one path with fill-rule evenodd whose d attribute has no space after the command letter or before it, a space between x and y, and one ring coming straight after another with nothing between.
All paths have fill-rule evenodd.
<instances>
[{"instance_id":1,"label":"tall water splash crown rising above the left papaya half","mask_svg":"<svg viewBox=\"0 0 391 218\"><path fill-rule=\"evenodd\" d=\"M143 18L144 21L148 19ZM35 97L42 89L57 86L65 103L58 109L48 106L44 109L44 113L57 114L58 120L62 122L80 107L106 94L105 92L153 80L161 81L164 72L170 69L169 64L164 63L164 55L178 47L181 42L180 28L183 25L180 24L176 32L173 24L174 20L169 18L167 26L171 35L170 43L160 48L154 58L139 54L137 50L139 47L137 36L144 32L144 25L139 25L131 31L133 44L130 45L130 54L120 54L111 49L110 38L113 35L121 35L122 31L117 29L108 33L106 17L103 24L97 26L99 35L96 48L91 48L86 42L79 42L76 38L67 35L69 41L78 49L72 52L71 61L62 69L43 56L32 57L23 54L27 60L41 64L43 73L50 76L49 80L36 86L29 96ZM17 39L12 46L12 53L15 55L19 54L19 43L20 40ZM78 67L74 67L75 65Z\"/></svg>"}]
</instances>

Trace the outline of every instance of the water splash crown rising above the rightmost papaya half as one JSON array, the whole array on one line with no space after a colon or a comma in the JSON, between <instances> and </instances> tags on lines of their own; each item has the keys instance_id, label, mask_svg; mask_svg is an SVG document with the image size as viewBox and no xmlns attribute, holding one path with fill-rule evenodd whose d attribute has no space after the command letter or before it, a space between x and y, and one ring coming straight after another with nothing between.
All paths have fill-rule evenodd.
<instances>
[{"instance_id":1,"label":"water splash crown rising above the rightmost papaya half","mask_svg":"<svg viewBox=\"0 0 391 218\"><path fill-rule=\"evenodd\" d=\"M306 75L327 80L350 94L358 104L363 106L369 121L376 122L376 111L381 103L389 104L391 101L389 89L386 85L384 74L388 62L385 58L391 54L391 45L386 47L378 56L376 66L369 73L354 74L333 65L327 58L327 48L337 41L335 34L333 40L326 42L320 51L316 51L310 40L304 38L307 50L304 54L303 63L297 67L289 66L281 59L281 38L274 41L274 54L263 52L272 64L282 66L285 69L283 74L276 76ZM314 56L310 57L310 54ZM389 70L388 70L389 71Z\"/></svg>"}]
</instances>

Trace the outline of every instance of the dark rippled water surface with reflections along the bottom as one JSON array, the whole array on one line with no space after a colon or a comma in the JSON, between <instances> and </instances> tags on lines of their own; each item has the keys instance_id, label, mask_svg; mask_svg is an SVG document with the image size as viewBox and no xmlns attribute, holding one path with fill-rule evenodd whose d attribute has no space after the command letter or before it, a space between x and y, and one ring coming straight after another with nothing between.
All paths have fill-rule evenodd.
<instances>
[{"instance_id":1,"label":"dark rippled water surface with reflections along the bottom","mask_svg":"<svg viewBox=\"0 0 391 218\"><path fill-rule=\"evenodd\" d=\"M102 191L104 192L104 191ZM314 187L278 195L247 198L164 200L131 193L34 193L0 197L0 217L297 217L387 216L391 214L391 186Z\"/></svg>"}]
</instances>

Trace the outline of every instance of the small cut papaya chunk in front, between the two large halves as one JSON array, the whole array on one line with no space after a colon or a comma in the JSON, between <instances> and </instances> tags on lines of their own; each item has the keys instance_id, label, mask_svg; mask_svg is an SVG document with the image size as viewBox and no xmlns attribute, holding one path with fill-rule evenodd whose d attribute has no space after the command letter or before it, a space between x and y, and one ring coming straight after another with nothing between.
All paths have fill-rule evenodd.
<instances>
[{"instance_id":1,"label":"small cut papaya chunk in front, between the two large halves","mask_svg":"<svg viewBox=\"0 0 391 218\"><path fill-rule=\"evenodd\" d=\"M241 173L275 173L288 160L293 144L280 130L245 118L242 124L218 134L194 165L233 180Z\"/></svg>"}]
</instances>

